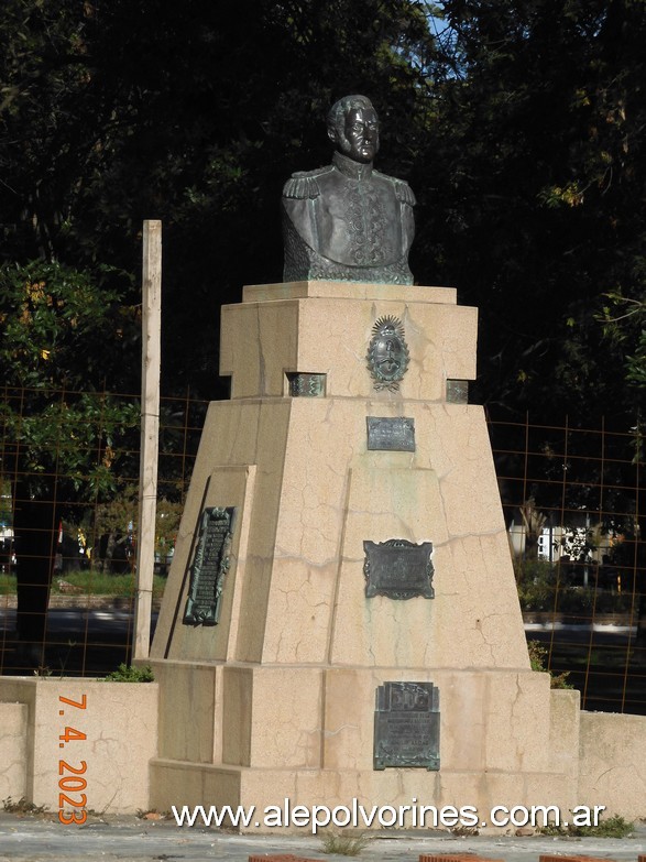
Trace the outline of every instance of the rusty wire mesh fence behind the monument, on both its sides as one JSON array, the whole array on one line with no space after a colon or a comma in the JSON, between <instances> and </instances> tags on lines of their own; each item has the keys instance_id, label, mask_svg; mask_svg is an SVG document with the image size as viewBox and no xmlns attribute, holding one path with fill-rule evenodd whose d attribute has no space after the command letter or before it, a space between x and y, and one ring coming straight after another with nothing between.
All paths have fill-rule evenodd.
<instances>
[{"instance_id":1,"label":"rusty wire mesh fence behind the monument, on both its sides","mask_svg":"<svg viewBox=\"0 0 646 862\"><path fill-rule=\"evenodd\" d=\"M206 407L162 400L153 610ZM583 708L646 713L640 427L489 427L528 641ZM135 396L0 390L0 674L131 658L139 443Z\"/></svg>"}]
</instances>

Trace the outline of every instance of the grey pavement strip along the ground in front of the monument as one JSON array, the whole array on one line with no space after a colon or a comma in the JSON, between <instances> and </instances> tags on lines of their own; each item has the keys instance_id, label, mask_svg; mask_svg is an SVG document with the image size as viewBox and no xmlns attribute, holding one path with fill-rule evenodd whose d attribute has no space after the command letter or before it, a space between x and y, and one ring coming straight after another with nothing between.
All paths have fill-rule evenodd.
<instances>
[{"instance_id":1,"label":"grey pavement strip along the ground in front of the monument","mask_svg":"<svg viewBox=\"0 0 646 862\"><path fill-rule=\"evenodd\" d=\"M0 812L0 862L248 862L250 855L292 853L321 862L349 856L326 855L321 836L238 836L205 827L177 827L174 820L135 817L90 817L81 827L63 826L55 816ZM418 862L420 854L473 853L504 862L538 862L544 853L587 855L637 862L646 853L646 823L636 823L633 838L549 838L545 836L477 836L456 838L436 830L381 830L358 862Z\"/></svg>"}]
</instances>

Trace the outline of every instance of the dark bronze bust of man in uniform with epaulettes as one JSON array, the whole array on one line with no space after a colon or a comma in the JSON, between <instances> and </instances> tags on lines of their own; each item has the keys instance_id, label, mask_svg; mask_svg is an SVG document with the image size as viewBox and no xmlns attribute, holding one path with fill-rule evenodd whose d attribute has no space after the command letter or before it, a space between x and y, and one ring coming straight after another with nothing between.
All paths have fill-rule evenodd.
<instances>
[{"instance_id":1,"label":"dark bronze bust of man in uniform with epaulettes","mask_svg":"<svg viewBox=\"0 0 646 862\"><path fill-rule=\"evenodd\" d=\"M373 170L379 121L370 99L339 99L328 137L332 164L293 174L283 189L284 281L413 284L415 196Z\"/></svg>"}]
</instances>

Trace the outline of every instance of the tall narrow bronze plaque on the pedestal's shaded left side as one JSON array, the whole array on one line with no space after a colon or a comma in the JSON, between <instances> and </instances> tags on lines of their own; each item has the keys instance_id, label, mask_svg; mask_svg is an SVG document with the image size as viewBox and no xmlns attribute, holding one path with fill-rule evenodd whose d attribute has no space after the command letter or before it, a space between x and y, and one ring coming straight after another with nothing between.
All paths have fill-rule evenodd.
<instances>
[{"instance_id":1,"label":"tall narrow bronze plaque on the pedestal's shaded left side","mask_svg":"<svg viewBox=\"0 0 646 862\"><path fill-rule=\"evenodd\" d=\"M184 613L187 625L216 625L220 618L234 525L236 506L212 506L201 513Z\"/></svg>"}]
</instances>

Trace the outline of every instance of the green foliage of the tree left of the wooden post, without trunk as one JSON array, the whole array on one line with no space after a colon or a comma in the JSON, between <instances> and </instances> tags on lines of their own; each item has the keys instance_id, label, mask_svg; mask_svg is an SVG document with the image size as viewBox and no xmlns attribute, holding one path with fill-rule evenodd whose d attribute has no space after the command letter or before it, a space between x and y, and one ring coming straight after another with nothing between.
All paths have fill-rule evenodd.
<instances>
[{"instance_id":1,"label":"green foliage of the tree left of the wooden post, without trunk","mask_svg":"<svg viewBox=\"0 0 646 862\"><path fill-rule=\"evenodd\" d=\"M31 495L94 499L114 488L119 441L139 407L101 390L123 361L136 318L120 295L58 263L0 266L1 466Z\"/></svg>"}]
</instances>

